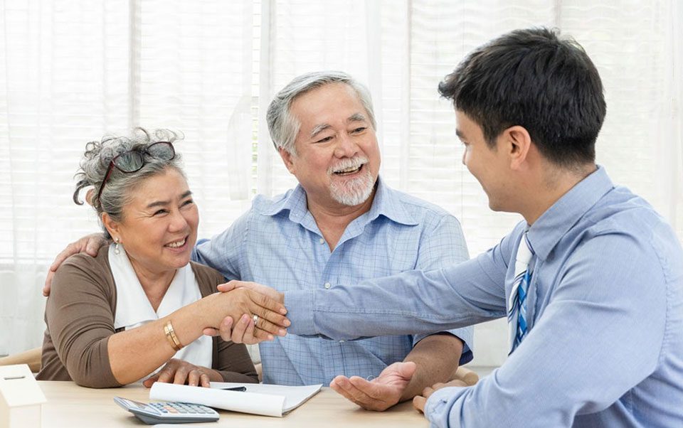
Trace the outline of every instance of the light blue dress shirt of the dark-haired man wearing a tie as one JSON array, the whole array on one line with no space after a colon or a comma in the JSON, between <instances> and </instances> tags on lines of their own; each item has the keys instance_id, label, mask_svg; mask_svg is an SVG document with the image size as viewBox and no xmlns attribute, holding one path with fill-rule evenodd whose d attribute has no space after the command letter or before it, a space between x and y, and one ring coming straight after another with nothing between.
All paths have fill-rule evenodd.
<instances>
[{"instance_id":1,"label":"light blue dress shirt of the dark-haired man wearing a tie","mask_svg":"<svg viewBox=\"0 0 683 428\"><path fill-rule=\"evenodd\" d=\"M290 331L351 339L505 316L527 227L457 266L285 293ZM531 225L529 242L528 335L474 387L435 392L426 417L438 427L683 427L683 251L672 228L598 168Z\"/></svg>"}]
</instances>

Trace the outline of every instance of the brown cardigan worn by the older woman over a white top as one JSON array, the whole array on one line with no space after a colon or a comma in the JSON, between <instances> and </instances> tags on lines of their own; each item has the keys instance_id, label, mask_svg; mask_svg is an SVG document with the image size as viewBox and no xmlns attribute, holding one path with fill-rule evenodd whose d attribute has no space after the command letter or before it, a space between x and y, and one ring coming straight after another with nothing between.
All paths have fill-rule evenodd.
<instances>
[{"instance_id":1,"label":"brown cardigan worn by the older woman over a white top","mask_svg":"<svg viewBox=\"0 0 683 428\"><path fill-rule=\"evenodd\" d=\"M87 387L121 386L114 378L107 353L114 330L116 286L109 265L109 247L97 257L69 257L55 273L45 308L48 328L43 340L43 367L38 380L74 380ZM201 296L216 292L223 276L211 267L191 262ZM161 333L160 333L161 334ZM213 365L225 382L258 382L243 344L213 338Z\"/></svg>"}]
</instances>

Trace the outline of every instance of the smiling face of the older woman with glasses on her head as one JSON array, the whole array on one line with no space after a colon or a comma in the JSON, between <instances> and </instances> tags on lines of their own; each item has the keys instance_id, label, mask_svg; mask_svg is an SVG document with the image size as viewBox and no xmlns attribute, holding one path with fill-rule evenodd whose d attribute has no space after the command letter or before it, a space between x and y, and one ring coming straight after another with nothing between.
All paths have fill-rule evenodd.
<instances>
[{"instance_id":1,"label":"smiling face of the older woman with glasses on her head","mask_svg":"<svg viewBox=\"0 0 683 428\"><path fill-rule=\"evenodd\" d=\"M198 224L185 178L166 168L133 188L132 200L123 208L123 220L116 223L112 236L120 237L136 272L137 267L166 272L189 263Z\"/></svg>"}]
</instances>

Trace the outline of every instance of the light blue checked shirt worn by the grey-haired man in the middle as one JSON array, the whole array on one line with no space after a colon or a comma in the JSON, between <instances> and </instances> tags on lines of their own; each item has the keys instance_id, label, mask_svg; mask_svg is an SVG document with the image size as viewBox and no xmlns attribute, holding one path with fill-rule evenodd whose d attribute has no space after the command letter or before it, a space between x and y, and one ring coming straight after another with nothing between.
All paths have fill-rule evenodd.
<instances>
[{"instance_id":1,"label":"light blue checked shirt worn by the grey-haired man in the middle","mask_svg":"<svg viewBox=\"0 0 683 428\"><path fill-rule=\"evenodd\" d=\"M226 279L280 291L329 291L338 284L406 270L438 269L463 262L468 255L460 223L452 215L379 180L371 209L349 223L333 252L307 210L305 191L297 186L273 199L257 196L231 228L200 242L193 259ZM337 375L376 377L427 336L413 336L409 328L404 333L352 342L292 334L275 338L259 346L263 381L327 385ZM472 328L451 333L465 342L460 363L467 363L472 359Z\"/></svg>"}]
</instances>

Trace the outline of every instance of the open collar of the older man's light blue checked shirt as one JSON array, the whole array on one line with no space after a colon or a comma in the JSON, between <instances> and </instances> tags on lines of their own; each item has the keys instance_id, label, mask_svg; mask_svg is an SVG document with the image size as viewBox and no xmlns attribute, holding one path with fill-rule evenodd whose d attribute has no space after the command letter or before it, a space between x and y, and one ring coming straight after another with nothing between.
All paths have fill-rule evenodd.
<instances>
[{"instance_id":1,"label":"open collar of the older man's light blue checked shirt","mask_svg":"<svg viewBox=\"0 0 683 428\"><path fill-rule=\"evenodd\" d=\"M272 204L270 209L266 210L264 214L272 216L277 215L284 210L289 210L290 220L296 223L305 223L305 218L308 216L312 219L312 215L310 215L307 208L306 191L300 184L297 184L292 191L287 192L284 198L277 201L277 203ZM381 177L378 177L372 206L370 207L370 210L364 215L361 215L360 218L365 219L365 221L362 222L364 223L363 225L365 225L372 220L375 220L380 215L403 225L418 224L418 221L415 220L411 213L408 213L401 203L398 192L387 186ZM356 220L360 220L360 218Z\"/></svg>"}]
</instances>

